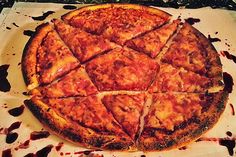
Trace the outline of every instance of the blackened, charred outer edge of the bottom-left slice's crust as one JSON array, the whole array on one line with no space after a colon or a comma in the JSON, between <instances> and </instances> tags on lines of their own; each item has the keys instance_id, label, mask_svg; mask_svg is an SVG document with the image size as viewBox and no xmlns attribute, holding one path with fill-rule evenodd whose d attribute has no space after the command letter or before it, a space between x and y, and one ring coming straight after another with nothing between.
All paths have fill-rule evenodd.
<instances>
[{"instance_id":1,"label":"blackened, charred outer edge of the bottom-left slice's crust","mask_svg":"<svg viewBox=\"0 0 236 157\"><path fill-rule=\"evenodd\" d=\"M51 118L52 115L47 115L46 110L44 110L40 105L35 103L33 100L25 100L25 105L29 108L29 110L33 113L33 115L49 130L53 131L53 133L62 136L68 141L75 143L79 146L85 146L87 148L102 148L105 150L136 150L134 143L130 140L123 139L122 137L116 138L115 135L100 135L96 134L96 132L91 131L88 128L82 128L82 130L87 130L86 133L80 134L81 129L75 130L72 126L66 124L63 127L60 127L60 124L53 121ZM73 124L72 124L73 125Z\"/></svg>"}]
</instances>

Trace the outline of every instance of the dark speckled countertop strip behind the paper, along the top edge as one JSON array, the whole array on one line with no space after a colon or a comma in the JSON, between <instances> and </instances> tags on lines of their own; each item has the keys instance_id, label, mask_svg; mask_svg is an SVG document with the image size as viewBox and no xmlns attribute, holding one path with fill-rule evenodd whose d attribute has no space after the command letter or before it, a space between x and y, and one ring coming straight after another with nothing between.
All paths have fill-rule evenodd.
<instances>
[{"instance_id":1,"label":"dark speckled countertop strip behind the paper, along the top edge","mask_svg":"<svg viewBox=\"0 0 236 157\"><path fill-rule=\"evenodd\" d=\"M212 8L224 8L236 10L236 0L0 0L0 12L4 7L11 7L14 1L21 2L54 2L54 3L138 3L161 7L185 7L201 8L210 6Z\"/></svg>"}]
</instances>

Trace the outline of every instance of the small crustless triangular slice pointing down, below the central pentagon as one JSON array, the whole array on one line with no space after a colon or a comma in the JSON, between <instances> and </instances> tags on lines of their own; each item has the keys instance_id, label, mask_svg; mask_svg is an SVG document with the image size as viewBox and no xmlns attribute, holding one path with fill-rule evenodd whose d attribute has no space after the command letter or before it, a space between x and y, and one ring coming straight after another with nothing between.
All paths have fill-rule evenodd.
<instances>
[{"instance_id":1,"label":"small crustless triangular slice pointing down, below the central pentagon","mask_svg":"<svg viewBox=\"0 0 236 157\"><path fill-rule=\"evenodd\" d=\"M140 129L140 116L146 101L145 94L106 95L102 102L124 130L135 140Z\"/></svg>"}]
</instances>

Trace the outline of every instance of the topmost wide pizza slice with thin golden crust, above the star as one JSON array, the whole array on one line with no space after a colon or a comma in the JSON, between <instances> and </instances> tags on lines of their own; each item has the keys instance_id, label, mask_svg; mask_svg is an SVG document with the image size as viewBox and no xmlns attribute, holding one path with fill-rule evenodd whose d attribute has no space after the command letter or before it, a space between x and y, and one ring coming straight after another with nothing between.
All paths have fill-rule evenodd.
<instances>
[{"instance_id":1,"label":"topmost wide pizza slice with thin golden crust, above the star","mask_svg":"<svg viewBox=\"0 0 236 157\"><path fill-rule=\"evenodd\" d=\"M101 35L119 44L169 21L170 14L133 4L103 4L83 7L62 16L72 26ZM119 32L117 32L119 31Z\"/></svg>"}]
</instances>

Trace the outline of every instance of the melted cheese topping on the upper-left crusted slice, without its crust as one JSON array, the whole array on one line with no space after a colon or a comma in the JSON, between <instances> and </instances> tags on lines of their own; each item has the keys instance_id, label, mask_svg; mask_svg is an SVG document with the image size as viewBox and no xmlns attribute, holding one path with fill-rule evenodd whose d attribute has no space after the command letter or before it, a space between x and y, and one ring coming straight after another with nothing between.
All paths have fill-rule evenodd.
<instances>
[{"instance_id":1,"label":"melted cheese topping on the upper-left crusted slice, without its crust","mask_svg":"<svg viewBox=\"0 0 236 157\"><path fill-rule=\"evenodd\" d=\"M37 71L42 83L50 83L79 65L78 60L64 45L55 31L48 33L38 48Z\"/></svg>"}]
</instances>

